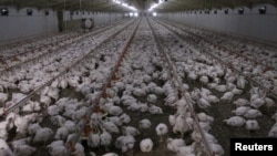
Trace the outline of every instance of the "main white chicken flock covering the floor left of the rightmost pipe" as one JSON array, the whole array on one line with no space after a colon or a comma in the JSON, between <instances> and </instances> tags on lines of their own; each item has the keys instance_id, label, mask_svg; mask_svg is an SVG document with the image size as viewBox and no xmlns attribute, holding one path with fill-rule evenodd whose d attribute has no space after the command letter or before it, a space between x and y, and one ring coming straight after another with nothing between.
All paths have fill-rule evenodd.
<instances>
[{"instance_id":1,"label":"main white chicken flock covering the floor left of the rightmost pipe","mask_svg":"<svg viewBox=\"0 0 277 156\"><path fill-rule=\"evenodd\" d=\"M102 92L137 24L123 61ZM150 24L174 66L158 52ZM113 37L122 29L124 31ZM65 37L71 38L66 40ZM113 38L107 40L110 37ZM59 49L63 45L58 44L61 40L66 45L63 49ZM151 19L124 22L95 37L72 32L45 42L49 42L45 43L49 49L44 46L39 52L58 50L29 63L28 67L17 67L0 76L0 114L4 116L0 123L0 155L155 155L155 149L165 145L163 152L167 155L202 156L212 152L223 156L228 153L226 146L211 133L216 122L259 132L263 127L258 119L264 113L270 113L264 110L275 108L275 100L267 92L250 85L244 76ZM30 46L32 44L29 43ZM20 53L31 49L29 45L23 44ZM32 53L37 54L37 51ZM22 59L33 56L27 54ZM10 66L20 60L17 58L4 64ZM69 66L72 67L30 98L19 113L6 114L7 108ZM189 101L178 90L174 72L182 80ZM276 79L276 74L273 77ZM82 93L84 98L61 96L65 90ZM93 110L90 110L92 105ZM194 112L189 105L195 108ZM226 113L230 116L216 119L212 112L215 105L232 108ZM270 117L277 122L277 113ZM45 121L50 122L45 124ZM83 122L84 128L81 126ZM271 125L264 137L277 137L276 125Z\"/></svg>"}]
</instances>

